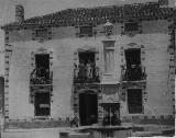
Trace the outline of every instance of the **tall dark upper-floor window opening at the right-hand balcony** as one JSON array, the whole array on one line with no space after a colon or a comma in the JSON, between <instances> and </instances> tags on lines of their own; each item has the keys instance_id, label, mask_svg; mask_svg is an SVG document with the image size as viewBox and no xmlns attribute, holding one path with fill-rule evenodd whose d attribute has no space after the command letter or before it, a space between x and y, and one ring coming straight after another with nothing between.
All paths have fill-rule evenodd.
<instances>
[{"instance_id":1,"label":"tall dark upper-floor window opening at the right-hand balcony","mask_svg":"<svg viewBox=\"0 0 176 138\"><path fill-rule=\"evenodd\" d=\"M125 79L127 80L141 80L142 78L142 67L141 67L141 49L131 48L125 51Z\"/></svg>"}]
</instances>

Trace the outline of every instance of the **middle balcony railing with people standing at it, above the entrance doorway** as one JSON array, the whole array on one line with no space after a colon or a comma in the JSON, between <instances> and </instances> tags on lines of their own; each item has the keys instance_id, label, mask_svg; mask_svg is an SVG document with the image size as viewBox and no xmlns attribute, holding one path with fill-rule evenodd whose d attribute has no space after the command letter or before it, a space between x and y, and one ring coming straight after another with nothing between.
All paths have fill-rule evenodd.
<instances>
[{"instance_id":1,"label":"middle balcony railing with people standing at it, above the entrance doorway","mask_svg":"<svg viewBox=\"0 0 176 138\"><path fill-rule=\"evenodd\" d=\"M74 66L74 83L95 83L100 82L99 68L79 64Z\"/></svg>"}]
</instances>

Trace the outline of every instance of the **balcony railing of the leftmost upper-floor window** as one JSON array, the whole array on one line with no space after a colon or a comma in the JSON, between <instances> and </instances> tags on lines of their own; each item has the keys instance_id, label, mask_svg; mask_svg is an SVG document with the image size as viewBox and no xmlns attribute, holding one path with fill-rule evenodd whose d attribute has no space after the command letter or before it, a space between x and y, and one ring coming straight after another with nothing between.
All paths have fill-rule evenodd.
<instances>
[{"instance_id":1,"label":"balcony railing of the leftmost upper-floor window","mask_svg":"<svg viewBox=\"0 0 176 138\"><path fill-rule=\"evenodd\" d=\"M53 83L53 72L44 71L41 73L35 70L30 74L30 84L52 84Z\"/></svg>"}]
</instances>

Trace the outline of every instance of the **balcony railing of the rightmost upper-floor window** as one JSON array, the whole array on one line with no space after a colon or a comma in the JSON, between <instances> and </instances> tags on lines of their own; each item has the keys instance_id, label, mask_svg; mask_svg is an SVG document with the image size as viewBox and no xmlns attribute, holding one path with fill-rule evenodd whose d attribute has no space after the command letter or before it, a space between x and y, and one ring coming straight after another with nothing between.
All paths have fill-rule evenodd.
<instances>
[{"instance_id":1,"label":"balcony railing of the rightmost upper-floor window","mask_svg":"<svg viewBox=\"0 0 176 138\"><path fill-rule=\"evenodd\" d=\"M129 67L121 67L122 81L141 81L146 79L145 67L141 65L132 65Z\"/></svg>"}]
</instances>

